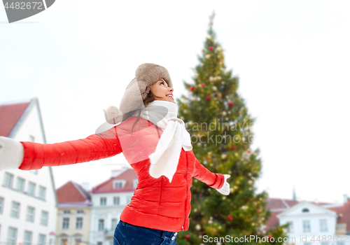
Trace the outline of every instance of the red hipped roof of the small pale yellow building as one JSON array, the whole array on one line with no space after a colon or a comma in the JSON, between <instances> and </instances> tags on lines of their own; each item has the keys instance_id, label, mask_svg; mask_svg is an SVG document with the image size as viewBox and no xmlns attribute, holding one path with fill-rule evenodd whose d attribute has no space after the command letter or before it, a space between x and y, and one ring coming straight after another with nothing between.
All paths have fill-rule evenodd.
<instances>
[{"instance_id":1,"label":"red hipped roof of the small pale yellow building","mask_svg":"<svg viewBox=\"0 0 350 245\"><path fill-rule=\"evenodd\" d=\"M62 202L85 202L90 200L90 194L79 184L69 181L56 190L57 201Z\"/></svg>"}]
</instances>

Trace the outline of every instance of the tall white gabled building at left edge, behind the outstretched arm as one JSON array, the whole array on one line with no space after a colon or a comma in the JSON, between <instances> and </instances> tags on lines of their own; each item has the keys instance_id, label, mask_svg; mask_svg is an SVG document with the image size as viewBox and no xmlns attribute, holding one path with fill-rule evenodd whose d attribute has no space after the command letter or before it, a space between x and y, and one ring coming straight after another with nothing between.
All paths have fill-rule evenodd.
<instances>
[{"instance_id":1,"label":"tall white gabled building at left edge, behind the outstretched arm","mask_svg":"<svg viewBox=\"0 0 350 245\"><path fill-rule=\"evenodd\" d=\"M38 99L0 105L0 136L45 144ZM0 172L0 243L53 244L56 206L50 167Z\"/></svg>"}]
</instances>

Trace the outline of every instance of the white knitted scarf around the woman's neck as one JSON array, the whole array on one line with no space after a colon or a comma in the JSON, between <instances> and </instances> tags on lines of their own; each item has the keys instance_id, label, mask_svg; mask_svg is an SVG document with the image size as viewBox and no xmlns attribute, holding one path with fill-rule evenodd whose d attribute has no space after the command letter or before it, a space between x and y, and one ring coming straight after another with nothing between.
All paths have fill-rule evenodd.
<instances>
[{"instance_id":1,"label":"white knitted scarf around the woman's neck","mask_svg":"<svg viewBox=\"0 0 350 245\"><path fill-rule=\"evenodd\" d=\"M150 174L153 178L166 176L172 182L181 154L191 151L191 137L187 132L185 123L177 118L177 105L174 102L155 100L148 103L141 110L140 118L149 120L163 130L155 152L149 158L151 160ZM138 116L138 111L133 116Z\"/></svg>"}]
</instances>

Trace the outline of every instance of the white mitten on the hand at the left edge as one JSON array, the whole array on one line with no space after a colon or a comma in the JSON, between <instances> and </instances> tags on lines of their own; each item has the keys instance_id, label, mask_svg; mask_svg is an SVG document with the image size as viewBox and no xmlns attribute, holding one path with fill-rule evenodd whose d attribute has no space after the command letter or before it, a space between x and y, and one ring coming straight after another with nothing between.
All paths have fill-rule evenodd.
<instances>
[{"instance_id":1,"label":"white mitten on the hand at the left edge","mask_svg":"<svg viewBox=\"0 0 350 245\"><path fill-rule=\"evenodd\" d=\"M18 169L23 162L25 149L20 141L0 137L0 171Z\"/></svg>"}]
</instances>

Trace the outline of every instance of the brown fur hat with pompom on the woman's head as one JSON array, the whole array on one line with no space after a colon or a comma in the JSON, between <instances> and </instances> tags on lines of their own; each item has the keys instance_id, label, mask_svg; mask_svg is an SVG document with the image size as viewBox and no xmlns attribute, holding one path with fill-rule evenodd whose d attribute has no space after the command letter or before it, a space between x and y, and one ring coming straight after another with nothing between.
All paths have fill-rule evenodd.
<instances>
[{"instance_id":1,"label":"brown fur hat with pompom on the woman's head","mask_svg":"<svg viewBox=\"0 0 350 245\"><path fill-rule=\"evenodd\" d=\"M151 90L153 83L163 78L169 87L173 87L172 79L165 67L158 64L144 63L137 67L135 78L125 90L120 106L110 106L104 111L106 121L117 124L123 120L123 115L130 111L144 108L144 99Z\"/></svg>"}]
</instances>

